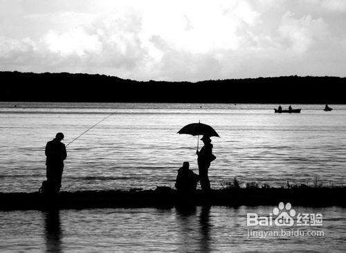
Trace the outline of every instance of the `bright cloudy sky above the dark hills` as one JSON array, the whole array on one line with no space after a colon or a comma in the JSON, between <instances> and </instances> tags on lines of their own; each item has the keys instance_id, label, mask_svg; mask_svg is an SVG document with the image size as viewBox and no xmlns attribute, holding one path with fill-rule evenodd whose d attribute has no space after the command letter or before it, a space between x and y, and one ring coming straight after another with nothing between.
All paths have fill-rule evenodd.
<instances>
[{"instance_id":1,"label":"bright cloudy sky above the dark hills","mask_svg":"<svg viewBox=\"0 0 346 253\"><path fill-rule=\"evenodd\" d=\"M346 0L0 0L1 71L346 76Z\"/></svg>"}]
</instances>

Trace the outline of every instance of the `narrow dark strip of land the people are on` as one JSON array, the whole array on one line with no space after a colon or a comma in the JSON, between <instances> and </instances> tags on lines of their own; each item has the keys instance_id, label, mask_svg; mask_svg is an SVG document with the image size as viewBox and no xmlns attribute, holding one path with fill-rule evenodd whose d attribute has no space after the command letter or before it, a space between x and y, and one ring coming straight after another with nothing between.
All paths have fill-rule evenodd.
<instances>
[{"instance_id":1,"label":"narrow dark strip of land the people are on","mask_svg":"<svg viewBox=\"0 0 346 253\"><path fill-rule=\"evenodd\" d=\"M280 202L293 206L346 207L343 196L346 187L307 188L258 188L258 189L213 189L210 193L197 190L191 194L180 194L170 187L155 190L109 190L109 191L62 191L55 197L32 193L0 193L0 211L89 209L117 207L163 207L179 205L260 206L277 205Z\"/></svg>"}]
</instances>

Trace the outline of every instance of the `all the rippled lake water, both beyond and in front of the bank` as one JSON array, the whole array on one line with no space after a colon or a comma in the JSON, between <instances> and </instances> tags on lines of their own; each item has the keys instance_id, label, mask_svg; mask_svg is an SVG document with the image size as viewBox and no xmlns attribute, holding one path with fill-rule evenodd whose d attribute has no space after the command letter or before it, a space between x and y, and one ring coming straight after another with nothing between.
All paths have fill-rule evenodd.
<instances>
[{"instance_id":1,"label":"all the rippled lake water, both beyond and in front of the bank","mask_svg":"<svg viewBox=\"0 0 346 253\"><path fill-rule=\"evenodd\" d=\"M67 144L111 113L67 147L63 191L174 187L183 161L198 173L197 137L176 132L199 120L221 136L212 138L214 188L235 176L242 185L312 185L315 177L323 185L345 185L346 106L325 112L323 105L295 104L302 113L291 115L273 113L277 106L0 102L0 192L37 191L46 176L46 142L62 131ZM322 214L323 225L291 229L323 236L249 236L246 213L268 215L271 206L13 211L0 212L0 251L345 250L345 209L292 205Z\"/></svg>"}]
</instances>

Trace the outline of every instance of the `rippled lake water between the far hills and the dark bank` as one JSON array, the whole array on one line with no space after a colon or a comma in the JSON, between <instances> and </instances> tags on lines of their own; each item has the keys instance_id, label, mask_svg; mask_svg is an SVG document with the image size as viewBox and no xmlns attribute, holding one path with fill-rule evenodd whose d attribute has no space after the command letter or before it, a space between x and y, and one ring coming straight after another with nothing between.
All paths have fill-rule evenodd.
<instances>
[{"instance_id":1,"label":"rippled lake water between the far hills and the dark bank","mask_svg":"<svg viewBox=\"0 0 346 253\"><path fill-rule=\"evenodd\" d=\"M17 106L17 107L15 107ZM62 191L174 187L183 161L198 173L197 136L185 124L210 124L217 160L212 187L232 181L272 186L345 185L346 105L0 103L0 191L37 191L46 177L44 147L61 131L67 144ZM282 105L286 109L288 105ZM199 141L201 142L201 141ZM199 143L201 144L201 143Z\"/></svg>"}]
</instances>

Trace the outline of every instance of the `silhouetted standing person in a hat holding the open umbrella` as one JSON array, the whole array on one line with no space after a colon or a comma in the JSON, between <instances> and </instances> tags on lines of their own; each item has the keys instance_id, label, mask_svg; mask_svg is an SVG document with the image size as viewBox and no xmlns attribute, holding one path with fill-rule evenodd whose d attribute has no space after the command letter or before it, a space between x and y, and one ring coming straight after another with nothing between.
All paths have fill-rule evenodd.
<instances>
[{"instance_id":1,"label":"silhouetted standing person in a hat holding the open umbrella","mask_svg":"<svg viewBox=\"0 0 346 253\"><path fill-rule=\"evenodd\" d=\"M197 162L199 169L199 180L201 182L202 191L210 191L210 181L208 178L208 169L210 167L210 162L216 159L216 156L212 154L212 140L208 135L203 135L201 140L204 146L200 151L197 151Z\"/></svg>"}]
</instances>

